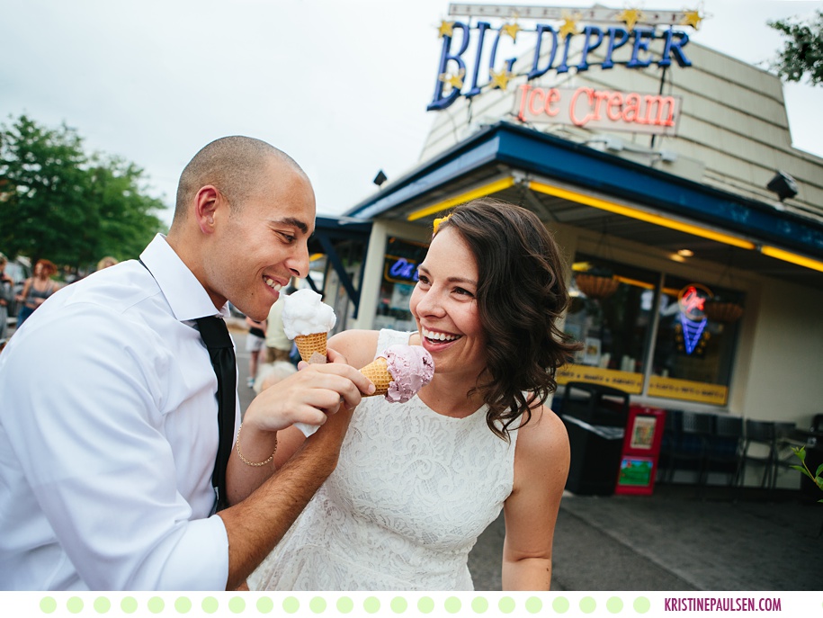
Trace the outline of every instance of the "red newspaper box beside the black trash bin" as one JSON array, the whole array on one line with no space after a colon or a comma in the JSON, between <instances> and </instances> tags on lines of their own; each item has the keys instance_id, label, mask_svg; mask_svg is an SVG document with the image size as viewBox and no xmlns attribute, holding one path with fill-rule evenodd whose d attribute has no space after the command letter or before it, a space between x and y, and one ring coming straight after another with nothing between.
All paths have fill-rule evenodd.
<instances>
[{"instance_id":1,"label":"red newspaper box beside the black trash bin","mask_svg":"<svg viewBox=\"0 0 823 618\"><path fill-rule=\"evenodd\" d=\"M666 410L640 406L629 408L615 494L651 495L658 474L664 425Z\"/></svg>"}]
</instances>

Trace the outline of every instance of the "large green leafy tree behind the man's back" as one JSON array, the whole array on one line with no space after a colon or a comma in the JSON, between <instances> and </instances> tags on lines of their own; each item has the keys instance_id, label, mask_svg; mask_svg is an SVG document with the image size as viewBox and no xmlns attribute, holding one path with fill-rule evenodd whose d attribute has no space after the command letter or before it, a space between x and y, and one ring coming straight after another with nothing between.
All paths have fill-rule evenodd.
<instances>
[{"instance_id":1,"label":"large green leafy tree behind the man's back","mask_svg":"<svg viewBox=\"0 0 823 618\"><path fill-rule=\"evenodd\" d=\"M162 222L163 202L140 186L143 171L120 158L86 155L65 124L25 115L0 125L0 250L74 269L103 255L136 257Z\"/></svg>"}]
</instances>

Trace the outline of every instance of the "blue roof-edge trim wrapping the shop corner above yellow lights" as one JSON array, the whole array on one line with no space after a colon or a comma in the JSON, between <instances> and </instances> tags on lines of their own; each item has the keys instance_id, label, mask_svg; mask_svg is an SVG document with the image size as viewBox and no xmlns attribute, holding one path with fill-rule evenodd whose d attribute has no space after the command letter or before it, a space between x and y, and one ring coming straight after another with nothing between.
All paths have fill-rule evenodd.
<instances>
[{"instance_id":1,"label":"blue roof-edge trim wrapping the shop corner above yellow lights","mask_svg":"<svg viewBox=\"0 0 823 618\"><path fill-rule=\"evenodd\" d=\"M823 257L823 226L816 221L506 122L480 131L347 214L377 217L495 161Z\"/></svg>"}]
</instances>

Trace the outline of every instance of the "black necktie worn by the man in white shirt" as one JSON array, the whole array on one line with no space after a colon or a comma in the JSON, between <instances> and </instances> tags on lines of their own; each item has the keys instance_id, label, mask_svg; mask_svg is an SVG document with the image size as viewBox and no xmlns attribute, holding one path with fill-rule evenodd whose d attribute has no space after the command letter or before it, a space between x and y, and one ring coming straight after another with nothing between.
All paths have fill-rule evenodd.
<instances>
[{"instance_id":1,"label":"black necktie worn by the man in white shirt","mask_svg":"<svg viewBox=\"0 0 823 618\"><path fill-rule=\"evenodd\" d=\"M209 316L197 318L197 327L203 343L209 348L211 366L217 375L217 404L220 442L211 484L217 489L217 510L228 506L226 501L226 466L234 443L235 398L237 393L237 364L234 346L228 336L225 320Z\"/></svg>"}]
</instances>

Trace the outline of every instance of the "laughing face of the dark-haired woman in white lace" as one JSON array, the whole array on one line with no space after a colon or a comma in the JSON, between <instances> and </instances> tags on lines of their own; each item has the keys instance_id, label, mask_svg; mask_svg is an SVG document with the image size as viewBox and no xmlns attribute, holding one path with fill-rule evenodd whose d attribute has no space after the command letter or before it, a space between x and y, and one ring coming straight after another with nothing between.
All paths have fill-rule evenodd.
<instances>
[{"instance_id":1,"label":"laughing face of the dark-haired woman in white lace","mask_svg":"<svg viewBox=\"0 0 823 618\"><path fill-rule=\"evenodd\" d=\"M409 301L436 373L466 372L474 380L486 367L477 291L477 260L456 229L444 228L420 264Z\"/></svg>"}]
</instances>

